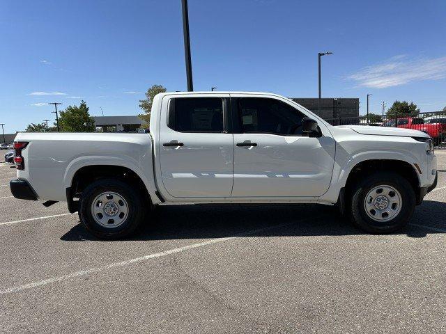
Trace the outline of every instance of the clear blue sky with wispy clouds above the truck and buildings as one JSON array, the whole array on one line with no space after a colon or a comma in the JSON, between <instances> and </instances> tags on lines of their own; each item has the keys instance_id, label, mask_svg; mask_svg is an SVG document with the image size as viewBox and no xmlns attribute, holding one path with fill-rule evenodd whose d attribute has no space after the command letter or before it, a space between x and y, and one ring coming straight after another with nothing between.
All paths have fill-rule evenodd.
<instances>
[{"instance_id":1,"label":"clear blue sky with wispy clouds above the truck and buildings","mask_svg":"<svg viewBox=\"0 0 446 334\"><path fill-rule=\"evenodd\" d=\"M365 96L422 111L446 106L446 1L189 0L195 90ZM0 122L54 118L85 100L93 116L134 115L153 84L185 90L180 0L0 0Z\"/></svg>"}]
</instances>

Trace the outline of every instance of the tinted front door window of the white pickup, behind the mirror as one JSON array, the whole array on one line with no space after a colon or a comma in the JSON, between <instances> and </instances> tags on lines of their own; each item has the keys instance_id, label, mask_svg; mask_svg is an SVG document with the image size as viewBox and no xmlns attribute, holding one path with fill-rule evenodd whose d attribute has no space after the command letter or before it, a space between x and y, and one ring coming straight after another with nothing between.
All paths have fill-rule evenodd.
<instances>
[{"instance_id":1,"label":"tinted front door window of the white pickup, behind the mirror","mask_svg":"<svg viewBox=\"0 0 446 334\"><path fill-rule=\"evenodd\" d=\"M243 133L302 136L303 113L279 100L243 97L238 100Z\"/></svg>"}]
</instances>

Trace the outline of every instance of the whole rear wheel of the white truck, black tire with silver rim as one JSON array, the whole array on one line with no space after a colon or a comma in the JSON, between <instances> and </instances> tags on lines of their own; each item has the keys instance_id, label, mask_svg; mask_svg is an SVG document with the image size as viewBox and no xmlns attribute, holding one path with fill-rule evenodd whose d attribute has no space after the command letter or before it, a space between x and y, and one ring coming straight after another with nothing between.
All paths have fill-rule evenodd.
<instances>
[{"instance_id":1,"label":"whole rear wheel of the white truck, black tire with silver rim","mask_svg":"<svg viewBox=\"0 0 446 334\"><path fill-rule=\"evenodd\" d=\"M119 180L102 179L82 192L79 218L86 230L100 239L121 239L137 229L144 218L141 196Z\"/></svg>"}]
</instances>

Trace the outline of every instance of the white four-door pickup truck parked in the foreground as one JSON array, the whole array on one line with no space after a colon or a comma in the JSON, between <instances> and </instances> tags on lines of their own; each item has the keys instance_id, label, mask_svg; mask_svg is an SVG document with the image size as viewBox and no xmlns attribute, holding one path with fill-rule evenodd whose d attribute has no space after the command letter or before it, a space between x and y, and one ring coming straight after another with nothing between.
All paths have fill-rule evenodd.
<instances>
[{"instance_id":1,"label":"white four-door pickup truck parked in the foreground","mask_svg":"<svg viewBox=\"0 0 446 334\"><path fill-rule=\"evenodd\" d=\"M162 93L150 134L20 133L16 198L68 202L97 237L176 203L337 205L368 232L402 228L436 186L429 135L329 125L269 93Z\"/></svg>"}]
</instances>

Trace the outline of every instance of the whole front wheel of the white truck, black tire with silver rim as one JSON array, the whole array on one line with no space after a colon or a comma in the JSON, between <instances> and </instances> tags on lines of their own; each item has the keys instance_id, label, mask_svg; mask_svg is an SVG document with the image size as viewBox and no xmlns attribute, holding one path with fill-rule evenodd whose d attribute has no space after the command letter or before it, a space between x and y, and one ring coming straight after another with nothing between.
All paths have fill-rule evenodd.
<instances>
[{"instance_id":1,"label":"whole front wheel of the white truck, black tire with silver rim","mask_svg":"<svg viewBox=\"0 0 446 334\"><path fill-rule=\"evenodd\" d=\"M352 221L371 233L403 228L415 209L415 191L397 173L380 172L366 177L351 193Z\"/></svg>"}]
</instances>

